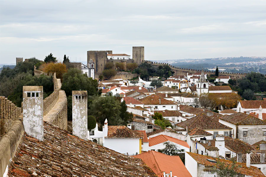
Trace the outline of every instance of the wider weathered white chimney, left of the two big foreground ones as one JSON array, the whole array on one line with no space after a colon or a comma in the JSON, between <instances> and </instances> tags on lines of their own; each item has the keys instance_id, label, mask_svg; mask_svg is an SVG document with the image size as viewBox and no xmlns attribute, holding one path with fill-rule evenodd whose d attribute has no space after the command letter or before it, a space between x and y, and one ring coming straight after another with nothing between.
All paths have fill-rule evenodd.
<instances>
[{"instance_id":1,"label":"wider weathered white chimney, left of the two big foreground ones","mask_svg":"<svg viewBox=\"0 0 266 177\"><path fill-rule=\"evenodd\" d=\"M22 94L24 130L43 141L43 86L23 86Z\"/></svg>"}]
</instances>

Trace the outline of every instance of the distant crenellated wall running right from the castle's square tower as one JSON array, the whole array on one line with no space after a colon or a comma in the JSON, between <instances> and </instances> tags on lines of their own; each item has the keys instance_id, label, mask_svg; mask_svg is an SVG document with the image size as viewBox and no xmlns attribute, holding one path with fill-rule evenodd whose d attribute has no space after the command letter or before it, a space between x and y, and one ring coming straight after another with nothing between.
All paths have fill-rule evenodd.
<instances>
[{"instance_id":1,"label":"distant crenellated wall running right from the castle's square tower","mask_svg":"<svg viewBox=\"0 0 266 177\"><path fill-rule=\"evenodd\" d=\"M196 72L201 72L201 70L197 69L188 69L188 68L178 68L176 66L172 66L168 63L159 63L159 62L153 62L149 60L144 60L144 62L153 64L153 65L168 65L173 71L175 71L175 75L186 75L186 73L196 73ZM207 75L215 74L215 71L204 71L207 73ZM228 73L228 72L221 72L219 71L220 76L230 76L232 79L236 78L243 78L246 76L247 73ZM266 75L264 75L266 77Z\"/></svg>"}]
</instances>

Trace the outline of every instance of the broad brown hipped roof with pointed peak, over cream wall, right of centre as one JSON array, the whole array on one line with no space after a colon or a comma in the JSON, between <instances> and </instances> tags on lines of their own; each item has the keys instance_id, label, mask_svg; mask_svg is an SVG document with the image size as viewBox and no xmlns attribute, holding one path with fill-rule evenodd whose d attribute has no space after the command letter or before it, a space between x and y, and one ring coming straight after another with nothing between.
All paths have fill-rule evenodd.
<instances>
[{"instance_id":1,"label":"broad brown hipped roof with pointed peak, over cream wall, right of centre","mask_svg":"<svg viewBox=\"0 0 266 177\"><path fill-rule=\"evenodd\" d=\"M195 117L187 119L183 122L176 124L179 127L186 128L188 125L189 130L192 130L195 127L199 127L203 130L217 130L217 129L232 129L224 124L221 124L212 118L208 117L206 114L199 114Z\"/></svg>"}]
</instances>

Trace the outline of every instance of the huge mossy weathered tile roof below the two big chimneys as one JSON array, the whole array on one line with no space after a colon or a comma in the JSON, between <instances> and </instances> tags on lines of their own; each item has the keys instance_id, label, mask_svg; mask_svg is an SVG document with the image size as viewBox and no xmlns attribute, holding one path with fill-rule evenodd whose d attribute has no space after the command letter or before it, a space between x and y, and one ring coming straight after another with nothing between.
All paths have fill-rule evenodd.
<instances>
[{"instance_id":1,"label":"huge mossy weathered tile roof below the two big chimneys","mask_svg":"<svg viewBox=\"0 0 266 177\"><path fill-rule=\"evenodd\" d=\"M25 135L8 176L153 176L140 159L82 140L47 122L44 141Z\"/></svg>"}]
</instances>

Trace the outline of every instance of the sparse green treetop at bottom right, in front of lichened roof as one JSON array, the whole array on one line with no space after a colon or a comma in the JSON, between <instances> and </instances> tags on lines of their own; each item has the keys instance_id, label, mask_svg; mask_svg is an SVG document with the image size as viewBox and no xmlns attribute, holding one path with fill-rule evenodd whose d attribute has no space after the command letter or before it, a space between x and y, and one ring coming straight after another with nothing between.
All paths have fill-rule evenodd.
<instances>
[{"instance_id":1,"label":"sparse green treetop at bottom right, in front of lichened roof","mask_svg":"<svg viewBox=\"0 0 266 177\"><path fill-rule=\"evenodd\" d=\"M216 165L213 167L213 171L211 173L216 173L217 176L221 177L240 177L237 171L241 167L242 165L238 165L236 163L236 160L232 160L232 163L228 164L218 158L216 161Z\"/></svg>"}]
</instances>

